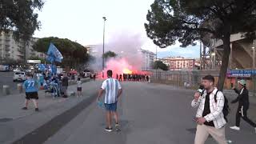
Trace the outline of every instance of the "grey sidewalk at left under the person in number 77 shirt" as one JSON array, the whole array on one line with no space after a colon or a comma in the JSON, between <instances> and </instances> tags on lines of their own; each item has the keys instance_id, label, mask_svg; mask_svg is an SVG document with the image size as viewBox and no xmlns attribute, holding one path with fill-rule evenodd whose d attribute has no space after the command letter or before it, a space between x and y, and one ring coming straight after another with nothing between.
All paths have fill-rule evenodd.
<instances>
[{"instance_id":1,"label":"grey sidewalk at left under the person in number 77 shirt","mask_svg":"<svg viewBox=\"0 0 256 144\"><path fill-rule=\"evenodd\" d=\"M82 83L82 98L53 98L51 94L45 94L44 90L40 90L39 112L34 111L32 102L28 107L29 110L21 110L25 102L24 93L0 98L0 143L14 142L86 98L94 97L98 87L98 82ZM76 85L69 86L68 90L76 92Z\"/></svg>"}]
</instances>

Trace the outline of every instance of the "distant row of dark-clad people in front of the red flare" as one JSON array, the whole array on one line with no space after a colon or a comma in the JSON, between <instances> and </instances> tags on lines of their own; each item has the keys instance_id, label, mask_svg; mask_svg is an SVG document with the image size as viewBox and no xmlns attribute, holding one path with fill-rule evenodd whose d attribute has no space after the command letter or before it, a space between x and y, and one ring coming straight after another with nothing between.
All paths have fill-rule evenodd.
<instances>
[{"instance_id":1,"label":"distant row of dark-clad people in front of the red flare","mask_svg":"<svg viewBox=\"0 0 256 144\"><path fill-rule=\"evenodd\" d=\"M137 81L142 82L146 81L149 82L150 76L146 74L117 74L116 78L118 81Z\"/></svg>"}]
</instances>

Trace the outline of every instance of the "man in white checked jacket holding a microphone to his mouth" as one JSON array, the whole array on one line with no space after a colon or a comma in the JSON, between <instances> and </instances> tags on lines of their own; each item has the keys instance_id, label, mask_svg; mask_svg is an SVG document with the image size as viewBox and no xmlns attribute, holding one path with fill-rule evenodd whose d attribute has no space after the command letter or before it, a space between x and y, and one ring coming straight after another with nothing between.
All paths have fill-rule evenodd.
<instances>
[{"instance_id":1,"label":"man in white checked jacket holding a microphone to his mouth","mask_svg":"<svg viewBox=\"0 0 256 144\"><path fill-rule=\"evenodd\" d=\"M214 77L211 75L202 78L202 85L205 90L202 94L195 93L194 100L191 102L192 107L198 107L195 119L198 126L194 144L204 144L209 134L219 144L226 144L226 120L222 113L225 103L224 95L214 87ZM216 98L214 98L215 94Z\"/></svg>"}]
</instances>

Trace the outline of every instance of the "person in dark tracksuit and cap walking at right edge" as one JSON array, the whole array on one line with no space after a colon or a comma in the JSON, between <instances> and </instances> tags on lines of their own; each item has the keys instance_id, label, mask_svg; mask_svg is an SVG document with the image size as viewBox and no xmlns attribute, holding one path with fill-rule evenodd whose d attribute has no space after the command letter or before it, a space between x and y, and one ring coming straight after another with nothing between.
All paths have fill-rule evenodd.
<instances>
[{"instance_id":1,"label":"person in dark tracksuit and cap walking at right edge","mask_svg":"<svg viewBox=\"0 0 256 144\"><path fill-rule=\"evenodd\" d=\"M246 81L240 80L238 81L238 89L233 87L235 93L238 94L238 97L234 99L231 103L238 102L238 110L235 117L235 126L231 126L230 129L232 130L240 130L240 119L242 118L246 122L250 124L250 126L254 127L256 133L256 124L247 117L247 110L249 109L249 92L246 88Z\"/></svg>"}]
</instances>

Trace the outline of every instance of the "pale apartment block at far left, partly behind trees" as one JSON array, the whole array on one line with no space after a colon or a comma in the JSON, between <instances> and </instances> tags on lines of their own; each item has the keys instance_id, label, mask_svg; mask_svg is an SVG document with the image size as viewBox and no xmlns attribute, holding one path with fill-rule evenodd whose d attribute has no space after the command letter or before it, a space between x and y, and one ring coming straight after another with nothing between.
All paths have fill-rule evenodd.
<instances>
[{"instance_id":1,"label":"pale apartment block at far left, partly behind trees","mask_svg":"<svg viewBox=\"0 0 256 144\"><path fill-rule=\"evenodd\" d=\"M44 58L44 54L39 53L33 49L34 42L38 38L31 38L29 42L25 43L22 40L16 42L13 38L12 32L0 34L0 59L2 62L9 59L15 61L25 62L30 57Z\"/></svg>"}]
</instances>

